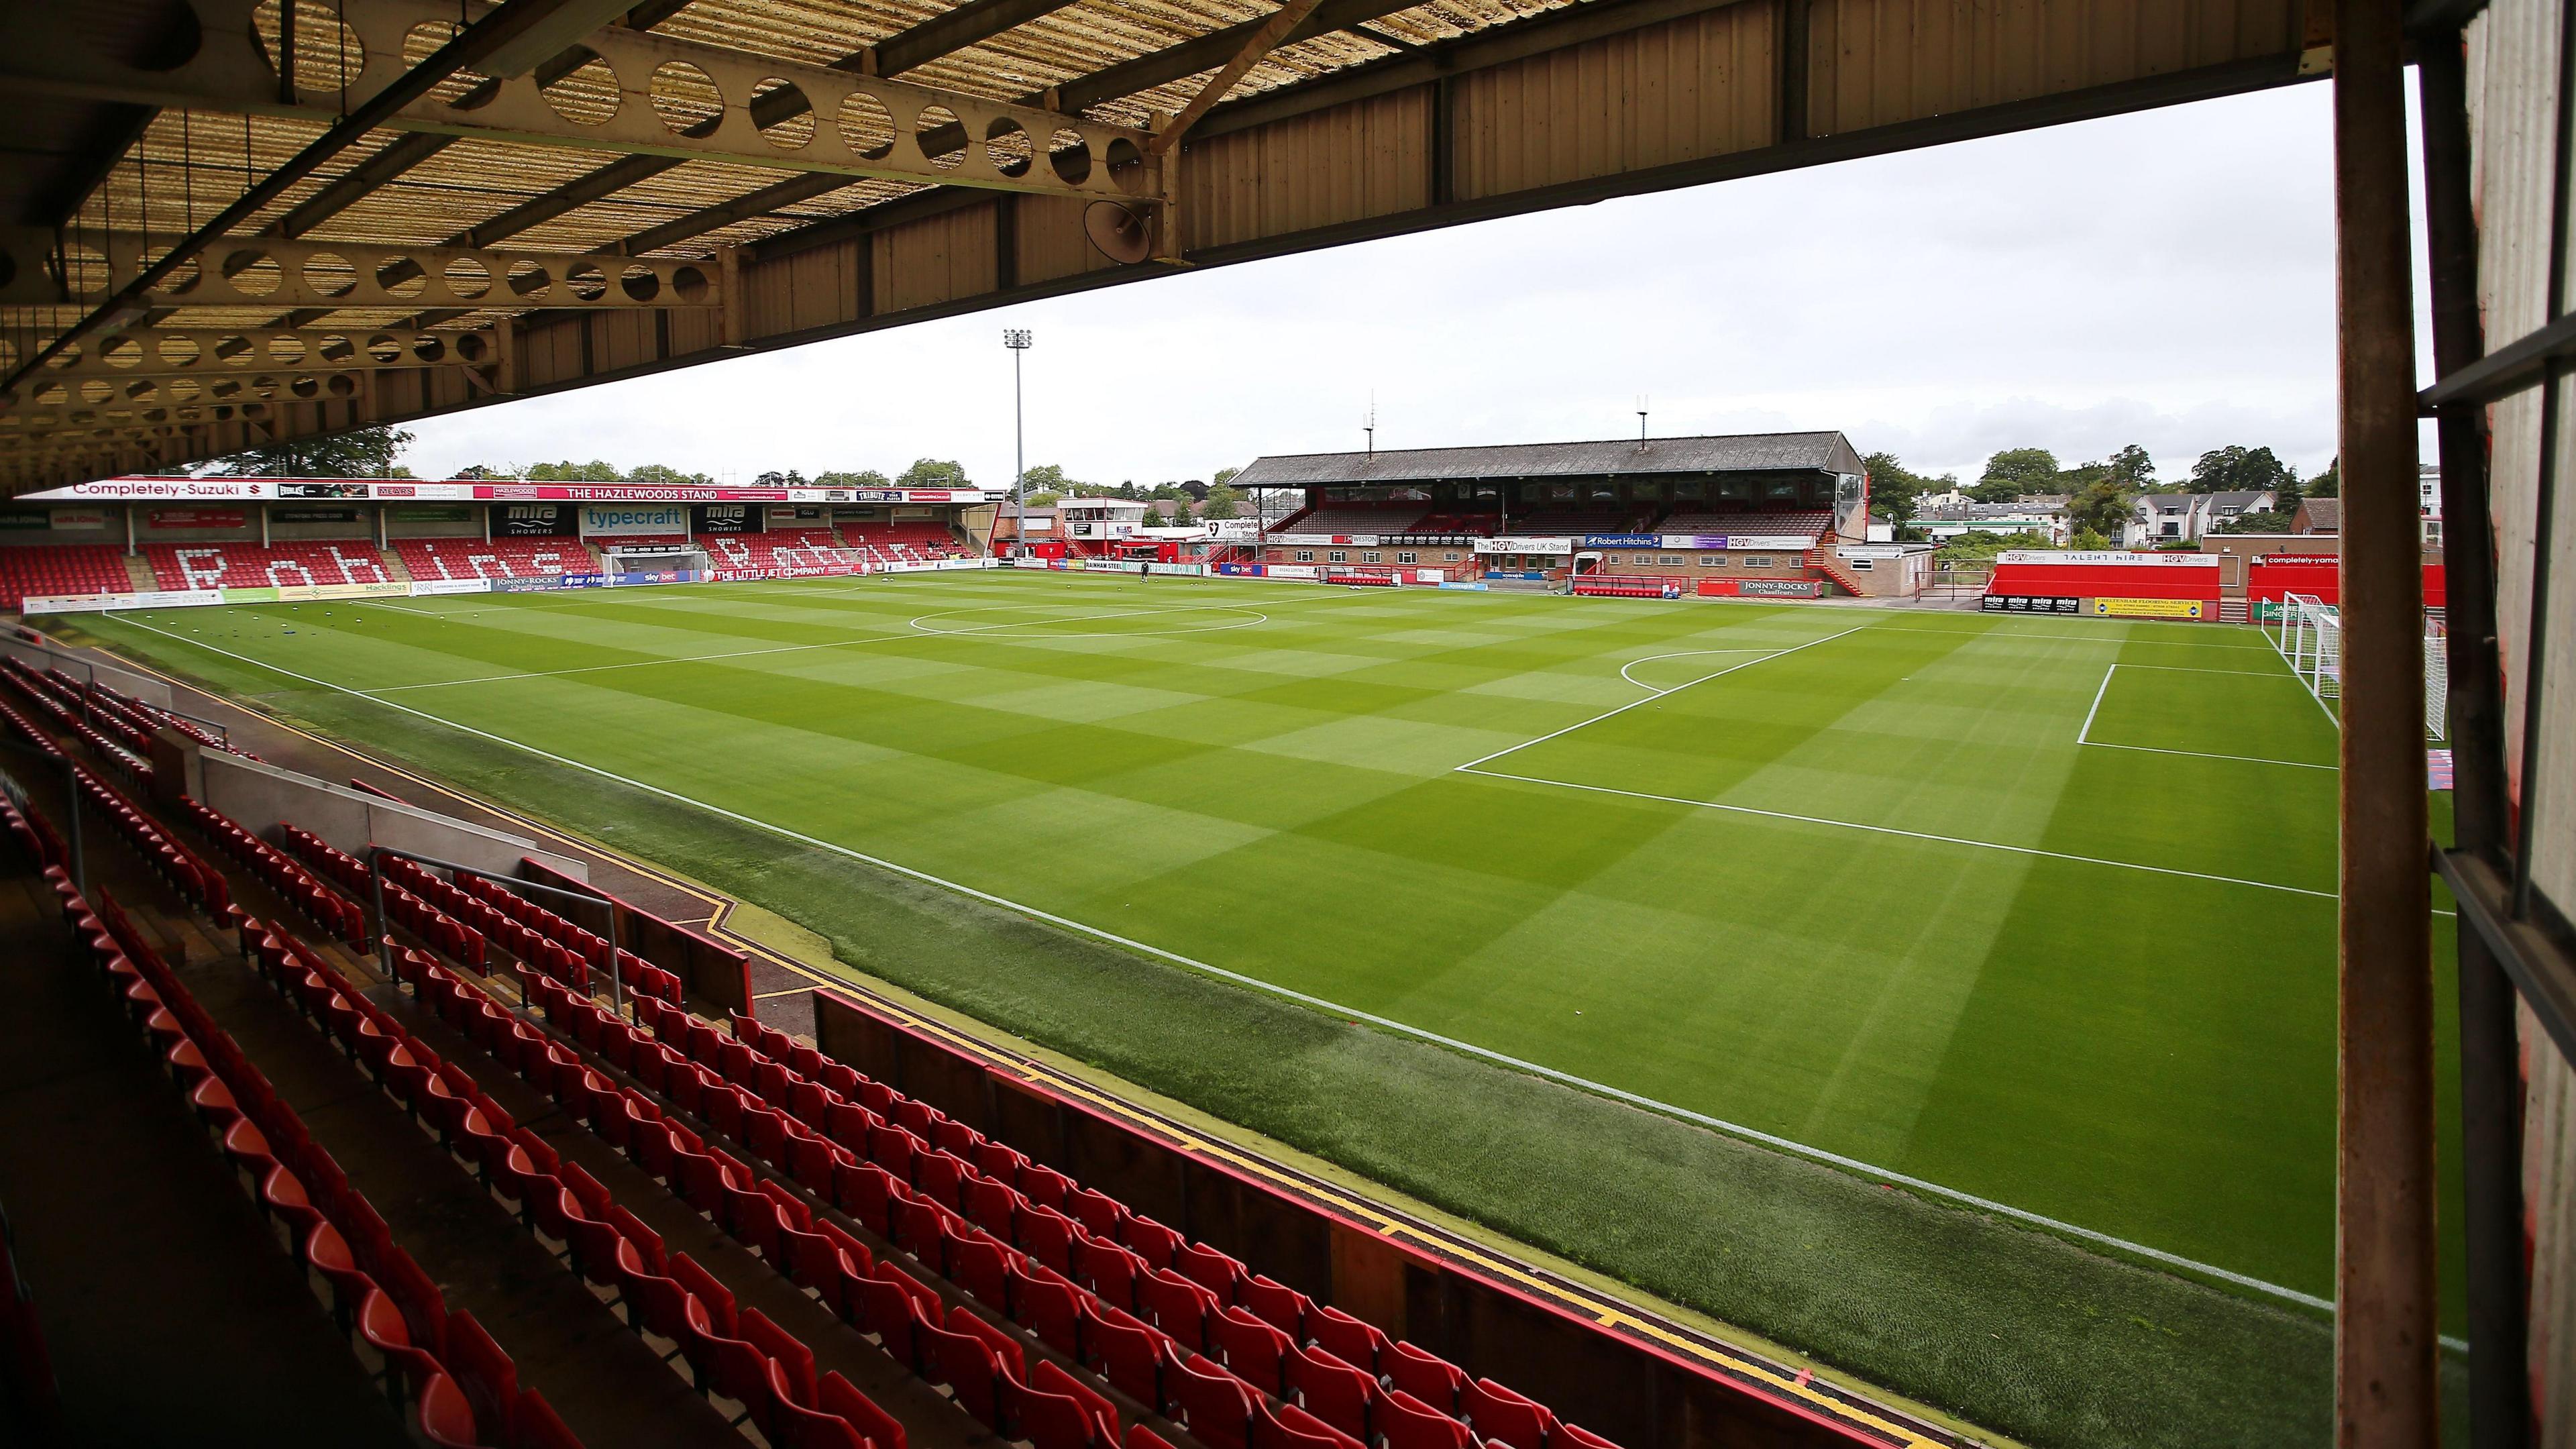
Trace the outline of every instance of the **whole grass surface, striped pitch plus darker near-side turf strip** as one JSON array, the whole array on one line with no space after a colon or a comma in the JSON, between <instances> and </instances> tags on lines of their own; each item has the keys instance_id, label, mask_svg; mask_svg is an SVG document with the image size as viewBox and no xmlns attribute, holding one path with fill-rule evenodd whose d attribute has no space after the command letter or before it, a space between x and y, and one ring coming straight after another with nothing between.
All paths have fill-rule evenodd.
<instances>
[{"instance_id":1,"label":"whole grass surface, striped pitch plus darker near-side turf strip","mask_svg":"<svg viewBox=\"0 0 2576 1449\"><path fill-rule=\"evenodd\" d=\"M914 614L974 634L914 637ZM2105 743L2331 753L2316 704L2262 678L2280 665L2251 632L1007 575L149 621L355 688L582 668L389 699L2324 1292L2329 900L1450 773L1643 699L1623 663L1677 686L1757 657L1682 650L1811 642L1484 768L2331 890L2329 771L2074 745L2092 714ZM886 980L1981 1423L2066 1444L2324 1431L2324 1333L2295 1318L345 694L278 691L291 681L124 621L100 632L734 890ZM711 652L737 657L600 668Z\"/></svg>"}]
</instances>

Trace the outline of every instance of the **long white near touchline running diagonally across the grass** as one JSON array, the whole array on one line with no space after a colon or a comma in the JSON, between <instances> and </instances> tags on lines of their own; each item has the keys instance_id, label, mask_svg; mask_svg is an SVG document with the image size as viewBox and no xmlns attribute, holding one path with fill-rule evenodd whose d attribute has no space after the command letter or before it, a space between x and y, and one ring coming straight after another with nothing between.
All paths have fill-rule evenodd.
<instances>
[{"instance_id":1,"label":"long white near touchline running diagonally across the grass","mask_svg":"<svg viewBox=\"0 0 2576 1449\"><path fill-rule=\"evenodd\" d=\"M616 771L603 771L600 766L590 766L590 763L582 763L582 761L574 761L574 758L567 758L567 755L556 755L551 750L541 750L536 745L528 745L526 740L513 740L507 735L495 735L489 730L477 730L471 724L459 724L456 719L446 719L440 714L430 714L428 709L412 709L410 704L399 704L399 701L392 701L392 699L376 699L376 696L371 696L366 691L355 691L355 688L332 683L327 678L314 678L314 676L307 676L307 673L278 668L278 665L265 663L265 660L255 660L250 655L237 655L232 650L209 645L204 639L191 639L185 634L173 634L167 629L160 629L155 624L142 624L142 619L134 619L134 624L139 624L144 629L152 629L155 634L162 634L167 639L178 639L180 645L191 645L191 647L198 647L198 650L206 650L206 652L214 652L214 655L224 655L227 660L240 660L245 665L252 665L252 668L260 668L260 670L268 670L268 673L278 673L278 676L286 676L286 678L294 678L294 681L304 681L304 683L312 683L312 686L319 686L319 688L348 694L348 696L355 696L355 699L368 699L368 701L381 704L386 709L399 709L404 714L428 719L433 724L446 724L448 730L456 730L461 735L474 735L479 740L492 740L495 745L523 750L523 753L531 753L531 755L536 755L541 761L551 761L551 763L559 763L559 766L567 766L567 768L577 768L577 771L585 771L585 773L592 773L592 776L600 776L600 779L631 786L631 789L641 789L647 794L659 794L662 799L672 799L677 804L690 804L696 810L706 810L708 815L719 815L724 820L734 820L737 825L750 825L755 830L768 830L773 835L783 835L783 838L796 841L801 846L814 846L817 851L829 851L835 856L848 856L853 861L860 861L860 864L868 864L868 866L876 866L876 869L886 869L886 871L894 871L899 877L917 879L922 884L935 884L940 890L953 890L958 895L966 895L971 900L981 900L987 905L994 905L994 908L1025 915L1030 920L1046 920L1048 926L1061 926L1066 931L1074 931L1074 933L1082 933L1082 936L1092 936L1092 938L1108 941L1113 946L1126 946L1131 951L1141 951L1146 957L1154 957L1154 959L1162 959L1162 962L1172 962L1177 967L1206 972L1211 977L1221 977L1221 980L1229 980L1229 982L1236 982L1236 985L1244 985L1244 987L1265 990L1270 995L1280 995L1280 998L1288 998L1288 1000L1296 1000L1296 1003L1303 1003L1303 1006L1314 1006L1319 1011L1332 1011L1332 1013L1340 1013L1345 1021L1368 1021L1373 1026L1383 1026L1386 1031L1414 1036L1419 1042L1435 1042L1435 1044L1448 1047L1453 1052L1466 1052L1466 1055L1481 1057L1486 1062L1497 1062L1497 1065L1515 1067L1515 1070L1522 1070L1522 1073L1530 1073L1530 1075L1538 1075L1538 1078L1558 1080L1558 1083L1566 1083L1571 1088L1582 1088L1582 1091L1589 1091L1589 1093L1607 1096L1613 1101L1625 1101L1628 1106L1638 1106L1638 1109L1646 1109L1646 1111L1659 1111L1664 1116L1692 1122L1692 1124L1708 1127L1713 1132L1726 1132L1726 1134L1741 1137L1747 1142L1762 1142L1765 1147L1777 1147L1783 1152L1795 1152L1795 1155L1816 1160L1816 1163L1832 1163L1832 1165L1844 1168L1850 1173L1870 1176L1870 1178L1878 1178L1878 1181L1886 1181L1886 1183L1904 1183L1904 1186L1909 1186L1914 1191L1932 1194L1932 1196L1940 1196L1940 1199L1947 1199L1947 1201L1958 1201L1963 1207L1973 1207L1973 1209L1981 1209L1981 1212L1996 1212L1996 1214L2012 1217L2014 1222L2030 1222L2032 1227L2045 1227L2050 1232L2063 1232L2063 1235L2079 1238L2084 1243L2099 1243L2099 1245L2115 1248L2120 1253L2136 1253L2138 1258L2148 1258L2148 1261L2164 1263L2169 1269L2184 1269L2190 1274L2213 1276L2213 1279L2236 1284L2241 1289L2272 1294L2272 1297L2285 1299L2285 1302L2295 1302L2295 1305L2303 1305L2303 1307L2334 1312L2334 1302L2321 1299L2316 1294L2306 1294L2306 1292L2298 1292L2298 1289L2290 1289L2290 1287L2282 1287L2282 1284L2272 1284L2272 1281L2264 1281L2264 1279L2257 1279L2257 1276L2249 1276L2249 1274L2221 1269L2215 1263L2202 1263L2197 1258L2184 1258L2179 1253L2166 1253L2164 1248L2148 1248L2146 1243L2130 1243L2128 1238L2115 1238L2110 1232L2099 1232L2099 1230L2092 1230L2092 1227L2079 1227L2074 1222L2063 1222L2063 1220L2056 1220L2056 1217L2027 1212L2027 1209L2012 1207L2007 1201L1994 1201L1994 1199L1986 1199L1986 1196L1976 1196L1976 1194L1968 1194L1968 1191L1960 1191L1960 1189L1950 1189L1950 1186L1942 1186L1942 1183L1935 1183L1935 1181L1927 1181L1927 1178L1914 1178L1914 1176L1906 1176L1906 1173L1896 1173L1896 1171L1880 1168L1875 1163L1862 1163L1860 1158L1844 1158L1842 1152L1829 1152L1824 1147L1808 1147L1806 1142L1795 1142L1795 1140L1780 1137L1775 1132L1762 1132L1759 1127L1744 1127L1739 1122L1726 1122L1723 1116L1710 1116L1705 1111L1692 1111L1687 1106L1674 1106L1669 1101L1656 1101L1656 1098L1643 1096L1643 1093L1633 1093L1633 1091L1625 1091L1625 1088L1615 1088L1615 1085L1607 1085L1607 1083L1579 1078L1574 1073L1546 1067L1546 1065L1538 1065L1538 1062L1530 1062L1530 1060L1522 1060L1522 1057L1512 1057L1507 1052L1494 1052L1492 1047L1476 1047L1473 1042L1461 1042L1455 1036L1443 1036L1437 1031L1427 1031L1422 1026L1409 1026L1409 1024L1394 1021L1388 1016L1376 1016L1370 1011L1342 1006L1342 1003L1327 1000L1321 995L1309 995L1309 993L1301 993L1296 987L1283 987L1283 985L1275 985L1275 982L1265 982L1260 977L1249 977L1249 975L1242 975L1242 972L1229 972L1226 967L1216 967L1216 964L1200 962L1195 957L1182 957L1180 951L1164 951L1162 946L1149 946L1144 941L1136 941L1136 938L1128 938L1128 936L1118 936L1115 931L1103 931L1097 926L1087 926L1082 920L1072 920L1066 915L1056 915L1054 910L1041 910L1036 905L1023 905L1018 900L1010 900L1010 897L1002 897L1002 895L992 895L992 892L976 890L971 884L943 879L943 877L935 877L930 871L917 871L912 866L902 866L896 861L889 861L889 859L881 859L881 856L871 856L866 851L853 851L850 846L837 846L832 841L822 841L822 838L806 835L804 830L791 830L786 825L773 825L768 820L755 820L750 815L742 815L739 810L726 810L721 804L708 804L703 799L685 797L685 794L680 794L675 789L662 789L657 784L644 784L639 779L629 779L629 776L621 776ZM1824 639L1814 639L1814 642L1824 642ZM1479 773L1486 773L1486 771L1479 771ZM1499 779L1515 779L1515 776L1499 776ZM1556 784L1556 781L1538 781L1538 784ZM1685 802L1685 804L1690 804L1690 802ZM1973 843L1973 841L1968 841L1968 843ZM2275 887L2275 890L2293 890L2293 887Z\"/></svg>"}]
</instances>

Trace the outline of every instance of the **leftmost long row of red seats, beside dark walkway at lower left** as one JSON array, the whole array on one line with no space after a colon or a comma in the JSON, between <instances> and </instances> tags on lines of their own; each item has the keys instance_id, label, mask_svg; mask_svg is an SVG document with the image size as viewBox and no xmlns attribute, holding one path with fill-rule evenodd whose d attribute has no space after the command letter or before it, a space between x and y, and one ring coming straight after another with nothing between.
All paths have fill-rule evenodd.
<instances>
[{"instance_id":1,"label":"leftmost long row of red seats, beside dark walkway at lower left","mask_svg":"<svg viewBox=\"0 0 2576 1449\"><path fill-rule=\"evenodd\" d=\"M59 859L59 838L52 828L31 825L5 799L0 807L10 817L10 833L39 851L44 879L62 902L64 920L88 944L108 987L139 1021L198 1124L234 1165L252 1201L286 1230L286 1248L322 1281L325 1302L332 1305L343 1330L353 1336L361 1361L374 1356L368 1369L386 1379L389 1392L410 1392L410 1403L417 1405L415 1423L433 1446L477 1449L466 1395L446 1369L440 1341L420 1346L410 1318L417 1305L422 1323L448 1323L438 1284L389 1238L381 1240L381 1253L371 1250L361 1258L350 1250L353 1235L361 1243L376 1243L384 1230L376 1209L348 1183L330 1152L312 1142L296 1111L278 1101L232 1034L206 1016L196 995L134 931L124 910L106 892L98 895L95 908L80 895ZM46 861L49 841L57 846L57 859ZM379 1284L394 1284L394 1292ZM479 1336L469 1315L456 1315L453 1323ZM544 1400L538 1400L538 1410L544 1410ZM559 1444L569 1444L569 1439Z\"/></svg>"}]
</instances>

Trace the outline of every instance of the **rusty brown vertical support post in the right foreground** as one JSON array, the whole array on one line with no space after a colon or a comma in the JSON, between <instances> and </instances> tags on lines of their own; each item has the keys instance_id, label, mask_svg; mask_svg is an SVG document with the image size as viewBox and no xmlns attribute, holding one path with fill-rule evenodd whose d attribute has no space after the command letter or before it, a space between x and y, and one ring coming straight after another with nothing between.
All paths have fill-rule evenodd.
<instances>
[{"instance_id":1,"label":"rusty brown vertical support post in the right foreground","mask_svg":"<svg viewBox=\"0 0 2576 1449\"><path fill-rule=\"evenodd\" d=\"M2434 1449L2432 833L2398 0L2334 5L2344 456L2334 1441Z\"/></svg>"}]
</instances>

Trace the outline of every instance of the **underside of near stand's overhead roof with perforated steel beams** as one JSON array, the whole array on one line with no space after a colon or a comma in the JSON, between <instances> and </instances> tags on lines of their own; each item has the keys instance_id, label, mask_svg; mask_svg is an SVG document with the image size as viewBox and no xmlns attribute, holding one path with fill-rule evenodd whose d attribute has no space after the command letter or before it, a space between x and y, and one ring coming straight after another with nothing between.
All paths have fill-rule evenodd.
<instances>
[{"instance_id":1,"label":"underside of near stand's overhead roof with perforated steel beams","mask_svg":"<svg viewBox=\"0 0 2576 1449\"><path fill-rule=\"evenodd\" d=\"M2329 39L2306 0L1808 8L0 5L0 485L2282 85Z\"/></svg>"}]
</instances>

